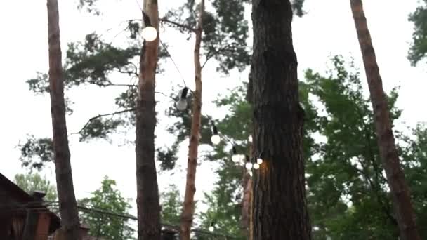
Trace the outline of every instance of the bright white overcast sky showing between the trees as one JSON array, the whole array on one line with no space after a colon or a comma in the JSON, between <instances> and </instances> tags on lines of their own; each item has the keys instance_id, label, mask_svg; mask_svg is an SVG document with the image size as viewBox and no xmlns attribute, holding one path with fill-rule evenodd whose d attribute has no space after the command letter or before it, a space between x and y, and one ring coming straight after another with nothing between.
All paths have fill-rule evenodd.
<instances>
[{"instance_id":1,"label":"bright white overcast sky showing between the trees","mask_svg":"<svg viewBox=\"0 0 427 240\"><path fill-rule=\"evenodd\" d=\"M95 18L86 13L77 11L77 0L59 1L60 29L65 57L66 44L71 41L81 41L84 36L93 30L99 33L110 34L106 39L124 29L124 25L117 27L123 20L140 18L140 10L135 0L110 1L110 5L103 5L103 17ZM142 2L142 1L140 1ZM171 8L172 4L180 5L181 1L160 0L161 13ZM393 3L392 3L393 2ZM398 107L403 109L402 121L414 126L419 121L427 121L427 112L423 111L426 101L427 65L411 67L406 58L409 42L412 36L412 23L407 16L414 11L417 1L407 0L365 0L364 10L367 15L369 30L379 62L381 76L386 91L400 85ZM363 69L360 48L355 34L353 18L350 12L349 1L344 0L306 0L308 14L303 18L294 19L294 47L298 56L298 70L302 78L302 71L307 67L318 72L327 69L329 56L342 54L345 57L353 56L355 64ZM106 29L114 27L110 32ZM4 85L0 88L0 173L13 179L16 173L24 173L21 168L18 142L25 141L27 134L36 137L51 136L51 113L48 95L34 96L25 83L35 76L37 71L47 72L48 69L48 42L47 42L47 14L46 1L20 0L1 1L0 3L0 69ZM169 44L169 51L180 68L185 81L193 86L192 46L194 41L185 41L185 36L166 29L160 32L162 41ZM116 41L114 41L116 42ZM157 76L157 91L169 95L171 85L182 85L176 69L167 60L163 64L166 72ZM215 72L215 62L206 65L202 79L204 81L204 113L221 114L211 104L218 93L224 93L225 88L237 86L242 79L247 79L247 72L232 73L225 77ZM364 72L361 74L364 79ZM129 79L119 79L129 81ZM124 89L122 89L124 90ZM97 114L114 112L114 98L121 89L106 88L98 90L94 87L79 87L65 93L73 102L74 114L67 116L69 133L79 131L87 119ZM157 126L157 145L171 142L171 136L165 135L163 129L164 107L169 100L162 95L157 96L162 101L157 105L159 119ZM163 121L162 121L163 120ZM88 143L78 142L77 137L70 137L72 154L72 173L74 189L77 198L87 196L100 185L104 175L117 180L118 188L125 197L132 198L135 205L136 178L135 154L133 145L123 145L124 139L133 140L134 131L126 135L115 135L112 144L104 140ZM121 145L121 146L120 146ZM179 163L186 164L185 143ZM216 176L212 168L214 163L204 163L197 168L196 199L202 199L202 192L209 191ZM174 175L160 175L159 189L170 183L180 187L181 194L185 187L185 168L180 168ZM54 171L44 173L53 182ZM136 209L131 212L136 213Z\"/></svg>"}]
</instances>

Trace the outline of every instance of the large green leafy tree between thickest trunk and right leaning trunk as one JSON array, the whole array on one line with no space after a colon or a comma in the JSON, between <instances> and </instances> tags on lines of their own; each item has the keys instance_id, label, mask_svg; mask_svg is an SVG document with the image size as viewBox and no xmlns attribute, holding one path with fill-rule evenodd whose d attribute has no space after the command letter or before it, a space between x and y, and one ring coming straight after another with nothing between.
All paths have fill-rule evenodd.
<instances>
[{"instance_id":1,"label":"large green leafy tree between thickest trunk and right leaning trunk","mask_svg":"<svg viewBox=\"0 0 427 240\"><path fill-rule=\"evenodd\" d=\"M310 93L324 107L318 126L327 138L320 145L320 156L306 166L314 234L316 239L395 239L397 225L369 99L364 98L353 63L346 66L339 57L332 62L329 76L306 72ZM389 95L393 120L400 116L394 107L397 97L395 92Z\"/></svg>"}]
</instances>

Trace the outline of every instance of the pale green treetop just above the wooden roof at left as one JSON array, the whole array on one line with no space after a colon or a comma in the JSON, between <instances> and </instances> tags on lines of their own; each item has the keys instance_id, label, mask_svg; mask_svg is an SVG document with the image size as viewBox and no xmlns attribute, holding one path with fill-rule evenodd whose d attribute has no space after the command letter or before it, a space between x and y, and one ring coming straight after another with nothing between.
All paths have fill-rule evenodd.
<instances>
[{"instance_id":1,"label":"pale green treetop just above the wooden roof at left","mask_svg":"<svg viewBox=\"0 0 427 240\"><path fill-rule=\"evenodd\" d=\"M16 174L14 181L28 194L32 194L34 191L42 191L46 193L44 201L58 201L55 185L52 185L46 177L42 178L39 173Z\"/></svg>"}]
</instances>

